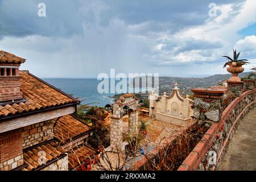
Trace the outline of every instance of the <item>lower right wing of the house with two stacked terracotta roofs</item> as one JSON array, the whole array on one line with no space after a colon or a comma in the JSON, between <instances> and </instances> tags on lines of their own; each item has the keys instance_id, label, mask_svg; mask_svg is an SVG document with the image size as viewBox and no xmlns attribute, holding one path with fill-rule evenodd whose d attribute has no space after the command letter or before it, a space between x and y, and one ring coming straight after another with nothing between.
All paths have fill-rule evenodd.
<instances>
[{"instance_id":1,"label":"lower right wing of the house with two stacked terracotta roofs","mask_svg":"<svg viewBox=\"0 0 256 182\"><path fill-rule=\"evenodd\" d=\"M93 133L92 127L80 122L72 115L54 119L54 138L68 152L68 169L88 169L96 162L98 152L88 146L87 140Z\"/></svg>"}]
</instances>

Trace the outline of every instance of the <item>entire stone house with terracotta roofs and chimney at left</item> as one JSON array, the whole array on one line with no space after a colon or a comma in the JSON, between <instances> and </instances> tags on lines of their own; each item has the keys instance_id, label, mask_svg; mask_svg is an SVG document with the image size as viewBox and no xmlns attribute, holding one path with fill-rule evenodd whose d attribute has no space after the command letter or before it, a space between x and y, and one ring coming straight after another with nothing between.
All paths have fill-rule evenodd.
<instances>
[{"instance_id":1,"label":"entire stone house with terracotta roofs and chimney at left","mask_svg":"<svg viewBox=\"0 0 256 182\"><path fill-rule=\"evenodd\" d=\"M25 61L0 51L0 170L74 168L71 148L95 154L82 145L92 129L69 115L80 101L19 71Z\"/></svg>"}]
</instances>

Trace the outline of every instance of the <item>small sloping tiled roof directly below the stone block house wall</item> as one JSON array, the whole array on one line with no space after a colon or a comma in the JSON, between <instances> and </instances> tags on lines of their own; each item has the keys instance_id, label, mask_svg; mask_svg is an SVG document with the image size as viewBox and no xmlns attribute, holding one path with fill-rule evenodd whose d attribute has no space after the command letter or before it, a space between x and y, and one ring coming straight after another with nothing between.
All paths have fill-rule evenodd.
<instances>
[{"instance_id":1,"label":"small sloping tiled roof directly below the stone block house wall","mask_svg":"<svg viewBox=\"0 0 256 182\"><path fill-rule=\"evenodd\" d=\"M47 163L50 163L52 160L59 159L60 156L65 152L67 151L58 146L55 142L42 144L41 146L27 150L26 152L23 152L23 157L24 163L26 163L28 166L23 168L22 171L32 171L43 166L43 162L40 162L40 159L42 159L42 154L46 154L46 158L44 159L46 160L45 162L47 166Z\"/></svg>"}]
</instances>

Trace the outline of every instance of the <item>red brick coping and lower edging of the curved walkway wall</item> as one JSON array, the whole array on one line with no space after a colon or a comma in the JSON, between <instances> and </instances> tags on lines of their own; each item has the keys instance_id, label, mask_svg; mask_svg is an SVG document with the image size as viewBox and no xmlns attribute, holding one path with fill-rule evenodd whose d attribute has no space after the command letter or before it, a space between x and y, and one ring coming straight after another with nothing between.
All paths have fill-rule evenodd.
<instances>
[{"instance_id":1,"label":"red brick coping and lower edging of the curved walkway wall","mask_svg":"<svg viewBox=\"0 0 256 182\"><path fill-rule=\"evenodd\" d=\"M184 160L184 162L181 164L181 166L179 167L179 169L177 169L177 171L193 171L193 170L197 170L197 168L199 167L201 161L204 159L205 154L207 154L209 148L212 146L213 141L215 138L220 137L219 131L221 131L223 129L224 123L226 121L226 119L228 118L228 115L230 114L230 112L234 109L234 107L243 100L243 98L245 98L247 95L256 92L256 89L253 90L249 90L245 93L243 93L240 97L237 97L236 99L234 99L229 105L228 107L226 107L226 109L222 112L222 117L220 119L220 121L218 123L213 123L213 125L209 128L209 130L207 131L207 133L205 133L204 137L201 139L201 141L199 143L197 143L196 147L193 149L193 151L187 156L187 158ZM218 160L220 160L221 155L228 143L228 140L230 138L230 135L232 134L232 131L234 129L234 127L236 126L236 123L238 121L238 119L240 119L241 115L243 114L243 112L247 109L247 107L255 104L256 101L254 100L253 102L251 102L250 104L248 104L242 111L241 113L238 115L238 117L236 118L236 121L234 121L233 126L231 127L231 129L229 130L228 136L226 137L226 139L224 140L224 144L217 156L217 162ZM213 167L213 170L215 169L215 167Z\"/></svg>"}]
</instances>

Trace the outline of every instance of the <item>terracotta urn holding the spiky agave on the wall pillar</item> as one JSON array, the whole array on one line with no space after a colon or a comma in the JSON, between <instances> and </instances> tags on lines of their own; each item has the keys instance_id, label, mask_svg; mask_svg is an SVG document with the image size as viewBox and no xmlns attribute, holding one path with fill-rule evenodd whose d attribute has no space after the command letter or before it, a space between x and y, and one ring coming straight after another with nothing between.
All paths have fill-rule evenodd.
<instances>
[{"instance_id":1,"label":"terracotta urn holding the spiky agave on the wall pillar","mask_svg":"<svg viewBox=\"0 0 256 182\"><path fill-rule=\"evenodd\" d=\"M229 78L229 81L241 81L241 78L238 77L239 73L242 73L245 68L242 67L242 65L245 65L244 62L240 62L240 64L238 64L238 62L230 62L228 63L229 68L227 68L226 70L229 73L232 73L232 77Z\"/></svg>"}]
</instances>

